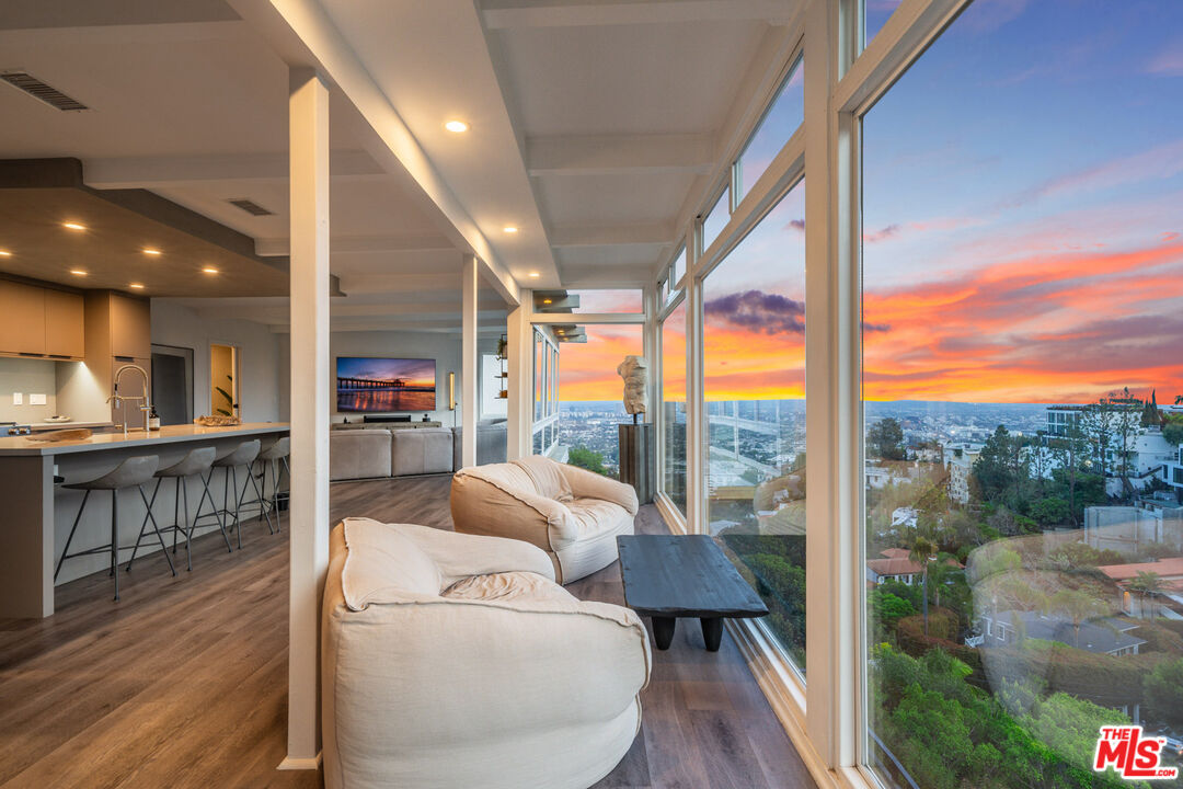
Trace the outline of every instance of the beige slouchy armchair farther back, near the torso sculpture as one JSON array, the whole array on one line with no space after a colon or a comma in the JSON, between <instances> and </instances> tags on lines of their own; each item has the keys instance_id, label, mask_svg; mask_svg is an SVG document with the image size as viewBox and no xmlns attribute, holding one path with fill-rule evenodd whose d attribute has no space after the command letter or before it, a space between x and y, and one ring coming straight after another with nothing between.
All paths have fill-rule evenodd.
<instances>
[{"instance_id":1,"label":"beige slouchy armchair farther back, near the torso sculpture","mask_svg":"<svg viewBox=\"0 0 1183 789\"><path fill-rule=\"evenodd\" d=\"M615 562L616 535L633 533L636 506L632 486L538 455L452 477L457 531L537 545L560 583Z\"/></svg>"}]
</instances>

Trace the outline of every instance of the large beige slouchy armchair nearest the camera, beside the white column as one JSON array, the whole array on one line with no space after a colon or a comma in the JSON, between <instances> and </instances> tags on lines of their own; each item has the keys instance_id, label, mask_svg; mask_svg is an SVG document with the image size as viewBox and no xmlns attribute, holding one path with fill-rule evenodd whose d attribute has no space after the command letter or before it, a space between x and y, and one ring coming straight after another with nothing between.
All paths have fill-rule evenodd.
<instances>
[{"instance_id":1,"label":"large beige slouchy armchair nearest the camera, beside the white column","mask_svg":"<svg viewBox=\"0 0 1183 789\"><path fill-rule=\"evenodd\" d=\"M347 518L322 609L328 789L583 789L641 722L645 627L524 542Z\"/></svg>"}]
</instances>

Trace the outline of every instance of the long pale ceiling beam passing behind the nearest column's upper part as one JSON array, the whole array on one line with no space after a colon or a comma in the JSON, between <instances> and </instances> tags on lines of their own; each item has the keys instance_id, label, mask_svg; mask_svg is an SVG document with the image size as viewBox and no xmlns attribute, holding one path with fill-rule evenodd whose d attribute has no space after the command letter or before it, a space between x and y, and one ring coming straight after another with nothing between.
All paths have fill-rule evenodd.
<instances>
[{"instance_id":1,"label":"long pale ceiling beam passing behind the nearest column's upper part","mask_svg":"<svg viewBox=\"0 0 1183 789\"><path fill-rule=\"evenodd\" d=\"M287 154L212 156L127 156L83 162L86 186L95 189L161 189L207 181L286 181ZM384 179L387 173L363 150L329 155L334 180Z\"/></svg>"}]
</instances>

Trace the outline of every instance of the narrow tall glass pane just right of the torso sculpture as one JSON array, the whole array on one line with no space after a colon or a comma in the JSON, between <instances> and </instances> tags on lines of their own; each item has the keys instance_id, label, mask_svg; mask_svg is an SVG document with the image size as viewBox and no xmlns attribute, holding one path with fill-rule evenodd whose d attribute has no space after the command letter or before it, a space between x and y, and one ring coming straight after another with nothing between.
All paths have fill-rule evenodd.
<instances>
[{"instance_id":1,"label":"narrow tall glass pane just right of the torso sculpture","mask_svg":"<svg viewBox=\"0 0 1183 789\"><path fill-rule=\"evenodd\" d=\"M661 490L686 515L686 302L661 324Z\"/></svg>"}]
</instances>

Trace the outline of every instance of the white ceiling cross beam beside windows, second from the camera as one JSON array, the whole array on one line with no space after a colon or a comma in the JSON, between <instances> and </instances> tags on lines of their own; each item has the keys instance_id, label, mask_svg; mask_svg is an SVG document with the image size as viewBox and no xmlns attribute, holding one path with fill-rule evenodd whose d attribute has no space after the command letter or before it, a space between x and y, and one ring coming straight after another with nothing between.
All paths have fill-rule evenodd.
<instances>
[{"instance_id":1,"label":"white ceiling cross beam beside windows, second from the camera","mask_svg":"<svg viewBox=\"0 0 1183 789\"><path fill-rule=\"evenodd\" d=\"M710 135L526 137L526 172L541 175L707 173Z\"/></svg>"}]
</instances>

